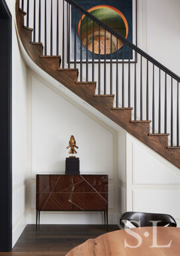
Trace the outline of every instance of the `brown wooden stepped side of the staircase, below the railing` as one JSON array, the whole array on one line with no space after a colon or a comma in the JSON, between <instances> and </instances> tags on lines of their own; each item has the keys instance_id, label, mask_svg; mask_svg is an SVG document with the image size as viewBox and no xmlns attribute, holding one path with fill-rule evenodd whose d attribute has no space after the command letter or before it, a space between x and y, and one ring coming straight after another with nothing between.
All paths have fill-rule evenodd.
<instances>
[{"instance_id":1,"label":"brown wooden stepped side of the staircase, below the railing","mask_svg":"<svg viewBox=\"0 0 180 256\"><path fill-rule=\"evenodd\" d=\"M144 142L147 146L155 150L158 154L169 160L172 164L180 168L180 148L174 150L168 148L168 136L149 136L150 121L133 122L132 108L116 110L113 108L114 96L95 95L95 82L77 82L78 69L60 68L61 59L42 57L42 45L32 44L32 30L24 27L23 17L26 13L19 9L19 0L16 1L17 29L24 49L38 66L53 78L64 84L69 90L77 94L91 106L105 114L113 122L124 128L127 132Z\"/></svg>"}]
</instances>

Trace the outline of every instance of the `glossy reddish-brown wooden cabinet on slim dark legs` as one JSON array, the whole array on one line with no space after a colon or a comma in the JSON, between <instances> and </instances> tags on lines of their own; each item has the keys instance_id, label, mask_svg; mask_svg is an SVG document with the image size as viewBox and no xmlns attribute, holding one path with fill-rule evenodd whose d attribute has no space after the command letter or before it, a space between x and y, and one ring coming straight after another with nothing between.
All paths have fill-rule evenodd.
<instances>
[{"instance_id":1,"label":"glossy reddish-brown wooden cabinet on slim dark legs","mask_svg":"<svg viewBox=\"0 0 180 256\"><path fill-rule=\"evenodd\" d=\"M36 211L36 222L40 211L104 211L108 217L108 176L37 175Z\"/></svg>"}]
</instances>

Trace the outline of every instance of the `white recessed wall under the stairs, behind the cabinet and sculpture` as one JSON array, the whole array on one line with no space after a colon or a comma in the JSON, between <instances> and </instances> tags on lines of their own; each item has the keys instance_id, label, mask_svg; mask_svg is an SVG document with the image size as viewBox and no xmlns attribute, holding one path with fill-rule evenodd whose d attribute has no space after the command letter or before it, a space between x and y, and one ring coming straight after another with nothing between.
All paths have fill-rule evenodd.
<instances>
[{"instance_id":1,"label":"white recessed wall under the stairs, behind the cabinet and sculpture","mask_svg":"<svg viewBox=\"0 0 180 256\"><path fill-rule=\"evenodd\" d=\"M36 174L64 174L69 138L75 136L81 174L109 176L109 223L117 223L118 134L95 116L81 111L51 84L28 70L30 120L28 223L35 223ZM72 217L73 215L73 217ZM103 223L102 213L42 213L41 223Z\"/></svg>"}]
</instances>

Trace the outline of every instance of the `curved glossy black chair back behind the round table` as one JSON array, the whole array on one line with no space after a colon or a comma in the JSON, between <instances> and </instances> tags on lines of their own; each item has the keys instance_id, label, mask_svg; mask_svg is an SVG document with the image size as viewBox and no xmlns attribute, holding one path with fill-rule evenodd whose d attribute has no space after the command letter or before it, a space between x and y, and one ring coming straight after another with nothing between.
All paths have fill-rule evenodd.
<instances>
[{"instance_id":1,"label":"curved glossy black chair back behind the round table","mask_svg":"<svg viewBox=\"0 0 180 256\"><path fill-rule=\"evenodd\" d=\"M171 215L162 213L128 211L120 218L120 228L122 229L125 227L123 220L130 221L135 227L150 227L153 225L151 221L159 221L157 222L157 226L159 227L164 227L165 225L168 225L168 227L177 227L177 223ZM140 222L140 225L134 221Z\"/></svg>"}]
</instances>

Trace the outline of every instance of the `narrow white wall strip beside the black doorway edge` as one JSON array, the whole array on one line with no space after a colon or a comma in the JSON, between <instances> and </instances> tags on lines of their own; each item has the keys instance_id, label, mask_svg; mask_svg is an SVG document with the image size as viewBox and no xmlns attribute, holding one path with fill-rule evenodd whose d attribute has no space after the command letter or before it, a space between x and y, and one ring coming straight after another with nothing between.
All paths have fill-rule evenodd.
<instances>
[{"instance_id":1,"label":"narrow white wall strip beside the black doorway edge","mask_svg":"<svg viewBox=\"0 0 180 256\"><path fill-rule=\"evenodd\" d=\"M13 245L26 225L26 64L15 31L15 1L7 4L13 27Z\"/></svg>"}]
</instances>

